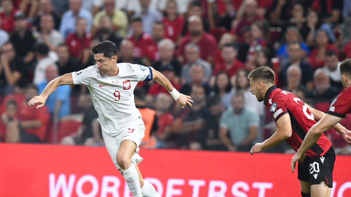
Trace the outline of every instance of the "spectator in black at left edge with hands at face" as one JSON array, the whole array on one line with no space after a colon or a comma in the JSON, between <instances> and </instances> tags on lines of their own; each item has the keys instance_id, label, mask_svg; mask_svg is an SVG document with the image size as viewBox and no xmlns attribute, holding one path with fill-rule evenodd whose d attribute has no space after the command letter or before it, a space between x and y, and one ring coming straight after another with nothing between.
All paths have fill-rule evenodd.
<instances>
[{"instance_id":1,"label":"spectator in black at left edge with hands at face","mask_svg":"<svg viewBox=\"0 0 351 197\"><path fill-rule=\"evenodd\" d=\"M13 93L15 86L24 88L28 82L26 64L16 54L12 43L6 42L1 48L0 56L0 95Z\"/></svg>"}]
</instances>

